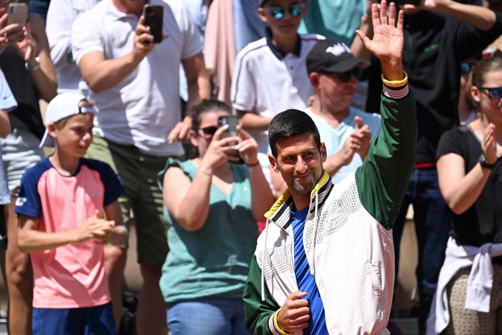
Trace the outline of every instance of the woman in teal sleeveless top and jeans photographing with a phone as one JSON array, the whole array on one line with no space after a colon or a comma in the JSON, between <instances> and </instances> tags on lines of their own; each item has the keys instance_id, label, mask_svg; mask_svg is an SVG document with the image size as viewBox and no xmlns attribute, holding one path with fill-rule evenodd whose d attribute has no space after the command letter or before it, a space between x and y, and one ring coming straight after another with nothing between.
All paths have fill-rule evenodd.
<instances>
[{"instance_id":1,"label":"woman in teal sleeveless top and jeans photographing with a phone","mask_svg":"<svg viewBox=\"0 0 502 335\"><path fill-rule=\"evenodd\" d=\"M230 112L217 100L195 106L190 142L199 156L170 158L159 174L170 248L160 286L173 335L247 334L242 291L256 248L256 221L275 199L256 141L239 126L238 137L223 138L228 126L218 129L218 117ZM232 163L235 152L243 165Z\"/></svg>"}]
</instances>

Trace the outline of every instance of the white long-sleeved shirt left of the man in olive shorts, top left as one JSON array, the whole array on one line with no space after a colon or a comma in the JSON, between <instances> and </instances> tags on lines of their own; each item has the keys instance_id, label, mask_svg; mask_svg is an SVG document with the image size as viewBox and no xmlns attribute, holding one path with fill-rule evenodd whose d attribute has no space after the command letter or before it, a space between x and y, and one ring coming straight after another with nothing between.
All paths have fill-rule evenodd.
<instances>
[{"instance_id":1,"label":"white long-sleeved shirt left of the man in olive shorts, top left","mask_svg":"<svg viewBox=\"0 0 502 335\"><path fill-rule=\"evenodd\" d=\"M58 78L58 93L79 91L82 76L71 53L71 25L97 3L98 0L51 0L45 32Z\"/></svg>"}]
</instances>

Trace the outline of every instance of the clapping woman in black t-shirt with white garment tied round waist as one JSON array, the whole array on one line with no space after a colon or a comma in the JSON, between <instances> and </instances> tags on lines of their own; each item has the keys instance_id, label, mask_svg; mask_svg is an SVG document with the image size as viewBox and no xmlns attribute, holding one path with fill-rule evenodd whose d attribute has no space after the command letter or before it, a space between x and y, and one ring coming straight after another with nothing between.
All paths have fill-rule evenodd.
<instances>
[{"instance_id":1,"label":"clapping woman in black t-shirt with white garment tied round waist","mask_svg":"<svg viewBox=\"0 0 502 335\"><path fill-rule=\"evenodd\" d=\"M439 187L455 215L428 333L488 335L502 324L502 59L476 63L470 94L477 119L438 146Z\"/></svg>"}]
</instances>

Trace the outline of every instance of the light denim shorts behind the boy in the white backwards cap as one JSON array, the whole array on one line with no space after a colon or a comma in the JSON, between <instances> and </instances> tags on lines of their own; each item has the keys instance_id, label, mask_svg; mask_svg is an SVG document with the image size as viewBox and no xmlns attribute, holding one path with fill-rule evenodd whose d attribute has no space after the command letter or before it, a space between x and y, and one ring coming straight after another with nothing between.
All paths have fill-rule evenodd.
<instances>
[{"instance_id":1,"label":"light denim shorts behind the boy in the white backwards cap","mask_svg":"<svg viewBox=\"0 0 502 335\"><path fill-rule=\"evenodd\" d=\"M5 139L0 139L0 143L9 190L12 192L21 185L21 177L26 169L40 162L45 155L38 147L40 140L27 129L13 129Z\"/></svg>"}]
</instances>

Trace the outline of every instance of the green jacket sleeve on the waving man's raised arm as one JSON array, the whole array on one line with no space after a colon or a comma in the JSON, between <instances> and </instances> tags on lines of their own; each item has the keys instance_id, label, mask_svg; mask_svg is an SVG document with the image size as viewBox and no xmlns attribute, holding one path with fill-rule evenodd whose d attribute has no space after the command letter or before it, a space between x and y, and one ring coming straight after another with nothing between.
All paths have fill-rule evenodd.
<instances>
[{"instance_id":1,"label":"green jacket sleeve on the waving man's raised arm","mask_svg":"<svg viewBox=\"0 0 502 335\"><path fill-rule=\"evenodd\" d=\"M382 94L382 129L369 147L355 180L362 205L382 226L392 229L415 164L417 117L409 92L393 99Z\"/></svg>"}]
</instances>

